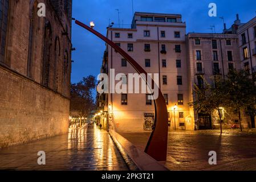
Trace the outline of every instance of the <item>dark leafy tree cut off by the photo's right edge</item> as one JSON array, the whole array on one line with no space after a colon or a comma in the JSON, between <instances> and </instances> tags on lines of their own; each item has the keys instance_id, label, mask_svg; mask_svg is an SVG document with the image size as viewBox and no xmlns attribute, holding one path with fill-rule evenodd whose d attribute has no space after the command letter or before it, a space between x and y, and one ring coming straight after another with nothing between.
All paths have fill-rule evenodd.
<instances>
[{"instance_id":1,"label":"dark leafy tree cut off by the photo's right edge","mask_svg":"<svg viewBox=\"0 0 256 182\"><path fill-rule=\"evenodd\" d=\"M227 104L234 110L234 113L238 114L242 131L241 111L247 110L247 113L255 116L255 80L248 71L233 69L228 73L223 84L227 89L226 97L229 101Z\"/></svg>"}]
</instances>

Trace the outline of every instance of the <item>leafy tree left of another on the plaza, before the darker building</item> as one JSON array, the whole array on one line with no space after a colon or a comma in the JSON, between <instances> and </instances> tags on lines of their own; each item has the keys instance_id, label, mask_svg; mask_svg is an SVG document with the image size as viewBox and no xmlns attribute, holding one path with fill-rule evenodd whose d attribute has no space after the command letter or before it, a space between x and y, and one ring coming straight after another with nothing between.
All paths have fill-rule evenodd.
<instances>
[{"instance_id":1,"label":"leafy tree left of another on the plaza, before the darker building","mask_svg":"<svg viewBox=\"0 0 256 182\"><path fill-rule=\"evenodd\" d=\"M226 88L222 85L222 78L220 76L214 76L214 84L209 84L205 82L203 87L194 85L193 90L193 102L189 105L194 107L196 113L209 113L211 114L213 110L218 111L218 117L220 121L220 129L222 133L222 122L221 122L221 110L220 107L226 105Z\"/></svg>"}]
</instances>

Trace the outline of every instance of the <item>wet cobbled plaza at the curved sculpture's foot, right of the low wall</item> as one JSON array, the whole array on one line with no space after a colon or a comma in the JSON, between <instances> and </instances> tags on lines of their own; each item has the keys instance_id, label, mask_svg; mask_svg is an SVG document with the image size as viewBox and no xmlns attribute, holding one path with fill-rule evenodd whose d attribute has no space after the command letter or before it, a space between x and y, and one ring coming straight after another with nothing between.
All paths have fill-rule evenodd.
<instances>
[{"instance_id":1,"label":"wet cobbled plaza at the curved sculpture's foot, right of the low wall","mask_svg":"<svg viewBox=\"0 0 256 182\"><path fill-rule=\"evenodd\" d=\"M150 133L121 133L144 150ZM217 152L217 165L208 163ZM256 170L256 135L237 131L172 131L165 166L170 170Z\"/></svg>"}]
</instances>

